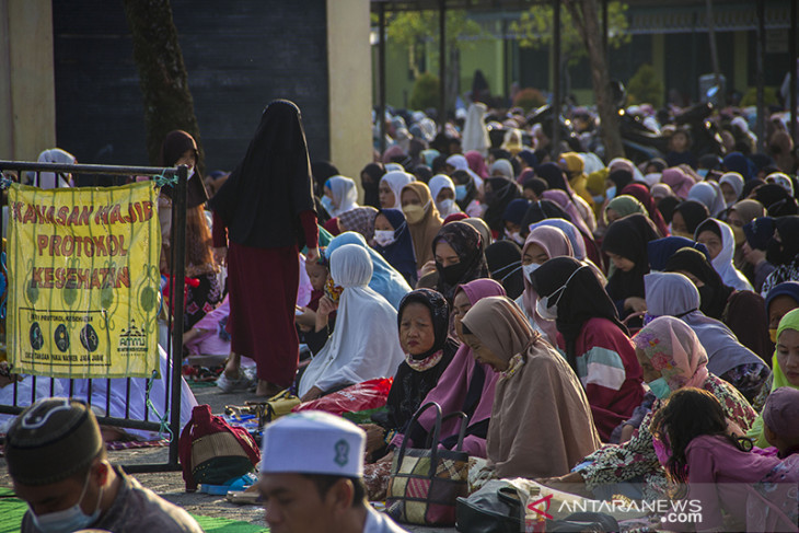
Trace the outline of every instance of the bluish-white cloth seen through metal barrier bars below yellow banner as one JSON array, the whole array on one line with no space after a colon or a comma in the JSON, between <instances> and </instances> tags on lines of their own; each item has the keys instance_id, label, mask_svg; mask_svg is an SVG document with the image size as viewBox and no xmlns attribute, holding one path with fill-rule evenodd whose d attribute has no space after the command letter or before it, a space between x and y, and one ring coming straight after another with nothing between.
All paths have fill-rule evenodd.
<instances>
[{"instance_id":1,"label":"bluish-white cloth seen through metal barrier bars below yellow banner","mask_svg":"<svg viewBox=\"0 0 799 533\"><path fill-rule=\"evenodd\" d=\"M152 407L149 409L148 421L159 421L164 415L164 401L166 397L166 379L170 376L170 360L163 348L159 346L159 359L161 364L161 376L158 378L150 390L150 402ZM181 369L178 368L180 372ZM65 394L69 394L69 380L60 380ZM130 410L128 418L134 420L143 420L144 413L148 410L144 406L147 395L147 379L130 379ZM125 397L127 392L127 380L125 378L111 380L111 409L105 412L106 391L108 389L108 380L92 380L92 407L99 416L112 416L125 418ZM171 387L170 387L171 389ZM72 397L88 401L89 397L89 380L74 380L72 389ZM192 418L192 409L197 405L192 389L189 389L186 380L181 376L181 427L185 426ZM100 408L100 412L96 408ZM153 410L154 407L154 410ZM125 432L136 437L139 440L153 440L158 438L158 432L140 429L125 429ZM166 436L164 436L166 437ZM180 436L175 436L177 438Z\"/></svg>"}]
</instances>

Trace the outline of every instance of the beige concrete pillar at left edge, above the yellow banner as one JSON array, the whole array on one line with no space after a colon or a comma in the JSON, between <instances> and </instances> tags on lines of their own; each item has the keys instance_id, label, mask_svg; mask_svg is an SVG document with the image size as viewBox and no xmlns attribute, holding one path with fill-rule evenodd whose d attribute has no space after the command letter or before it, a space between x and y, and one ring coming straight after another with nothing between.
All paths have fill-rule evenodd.
<instances>
[{"instance_id":1,"label":"beige concrete pillar at left edge, above the yellow banner","mask_svg":"<svg viewBox=\"0 0 799 533\"><path fill-rule=\"evenodd\" d=\"M50 0L0 0L0 158L56 147Z\"/></svg>"}]
</instances>

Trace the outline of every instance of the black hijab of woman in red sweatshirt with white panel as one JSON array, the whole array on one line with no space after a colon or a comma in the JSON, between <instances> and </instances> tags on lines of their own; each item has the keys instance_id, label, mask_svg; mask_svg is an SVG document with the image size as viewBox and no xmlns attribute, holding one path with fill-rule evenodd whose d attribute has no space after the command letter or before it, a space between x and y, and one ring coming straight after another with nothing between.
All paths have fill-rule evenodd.
<instances>
[{"instance_id":1,"label":"black hijab of woman in red sweatshirt with white panel","mask_svg":"<svg viewBox=\"0 0 799 533\"><path fill-rule=\"evenodd\" d=\"M566 340L566 360L575 372L577 372L578 356L575 354L577 337L589 318L607 318L625 335L629 335L618 320L616 306L602 288L593 269L587 264L574 257L554 257L535 269L531 281L533 290L541 298L549 297L551 305L557 303L555 324ZM560 292L556 294L558 290Z\"/></svg>"}]
</instances>

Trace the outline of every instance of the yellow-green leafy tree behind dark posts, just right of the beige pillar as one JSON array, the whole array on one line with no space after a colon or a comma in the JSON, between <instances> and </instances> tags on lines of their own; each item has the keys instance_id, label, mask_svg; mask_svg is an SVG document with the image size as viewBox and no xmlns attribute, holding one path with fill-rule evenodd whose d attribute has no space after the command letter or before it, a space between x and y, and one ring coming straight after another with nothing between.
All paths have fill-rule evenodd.
<instances>
[{"instance_id":1,"label":"yellow-green leafy tree behind dark posts, just right of the beige pillar","mask_svg":"<svg viewBox=\"0 0 799 533\"><path fill-rule=\"evenodd\" d=\"M454 102L460 92L460 50L468 46L463 37L477 37L482 34L479 24L466 18L465 11L447 11L445 47L448 51L444 88L447 101ZM426 60L439 57L439 12L404 11L386 20L386 35L408 50L408 65L418 78L430 68ZM429 50L429 54L428 54ZM431 61L432 62L432 61ZM438 72L435 72L438 74Z\"/></svg>"}]
</instances>

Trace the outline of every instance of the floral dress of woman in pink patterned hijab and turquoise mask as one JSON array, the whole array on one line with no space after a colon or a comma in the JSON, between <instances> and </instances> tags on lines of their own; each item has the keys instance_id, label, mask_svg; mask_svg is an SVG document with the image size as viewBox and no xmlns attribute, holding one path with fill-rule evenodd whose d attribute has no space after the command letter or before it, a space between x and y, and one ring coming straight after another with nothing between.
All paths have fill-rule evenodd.
<instances>
[{"instance_id":1,"label":"floral dress of woman in pink patterned hijab and turquoise mask","mask_svg":"<svg viewBox=\"0 0 799 533\"><path fill-rule=\"evenodd\" d=\"M749 430L757 414L740 392L713 374L708 374L703 389L718 398L730 420L743 431ZM589 490L601 485L644 478L649 489L645 490L645 497L662 494L662 488L667 486L665 473L655 453L649 425L652 415L663 405L660 399L655 402L652 410L644 417L638 432L629 441L618 445L606 444L586 457L584 462L589 464L579 473Z\"/></svg>"}]
</instances>

